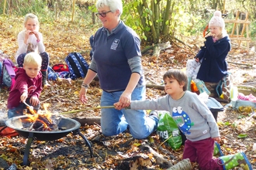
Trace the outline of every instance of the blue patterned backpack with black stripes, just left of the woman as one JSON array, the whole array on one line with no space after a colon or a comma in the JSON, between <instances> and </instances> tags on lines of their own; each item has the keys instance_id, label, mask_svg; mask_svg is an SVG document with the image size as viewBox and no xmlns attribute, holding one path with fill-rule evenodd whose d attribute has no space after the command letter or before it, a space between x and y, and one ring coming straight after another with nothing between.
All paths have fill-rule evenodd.
<instances>
[{"instance_id":1,"label":"blue patterned backpack with black stripes, just left of the woman","mask_svg":"<svg viewBox=\"0 0 256 170\"><path fill-rule=\"evenodd\" d=\"M79 77L85 77L89 65L80 53L69 53L65 58L65 62L69 68L70 77L72 80Z\"/></svg>"}]
</instances>

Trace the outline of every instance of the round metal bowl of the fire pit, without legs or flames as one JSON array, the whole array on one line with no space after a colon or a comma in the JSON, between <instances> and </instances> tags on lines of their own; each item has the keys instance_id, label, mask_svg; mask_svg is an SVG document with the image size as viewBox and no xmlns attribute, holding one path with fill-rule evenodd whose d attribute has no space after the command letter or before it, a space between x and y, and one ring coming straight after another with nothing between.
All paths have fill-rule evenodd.
<instances>
[{"instance_id":1,"label":"round metal bowl of the fire pit, without legs or flames","mask_svg":"<svg viewBox=\"0 0 256 170\"><path fill-rule=\"evenodd\" d=\"M58 127L64 129L62 131L28 131L26 129L22 129L22 120L27 118L26 115L12 117L5 121L6 126L16 130L18 134L25 138L33 138L37 141L54 141L59 138L63 138L67 136L67 134L71 133L71 131L78 130L81 124L74 119L62 117L61 121L58 124Z\"/></svg>"}]
</instances>

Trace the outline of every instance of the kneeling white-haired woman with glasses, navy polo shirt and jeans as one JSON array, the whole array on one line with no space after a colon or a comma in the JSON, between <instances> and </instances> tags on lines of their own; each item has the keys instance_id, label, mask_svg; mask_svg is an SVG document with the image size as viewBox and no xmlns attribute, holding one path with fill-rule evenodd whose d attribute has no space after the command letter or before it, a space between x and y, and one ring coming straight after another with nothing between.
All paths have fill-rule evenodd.
<instances>
[{"instance_id":1,"label":"kneeling white-haired woman with glasses, navy polo shirt and jeans","mask_svg":"<svg viewBox=\"0 0 256 170\"><path fill-rule=\"evenodd\" d=\"M120 20L123 12L122 1L98 0L96 8L102 28L94 35L92 63L81 84L81 102L88 101L88 84L96 75L99 76L102 88L102 107L113 106L116 102L128 107L130 100L145 100L140 38ZM147 138L157 128L158 117L155 112L152 113L154 114L147 116L144 110L103 108L102 134L112 136L128 129L133 138Z\"/></svg>"}]
</instances>

